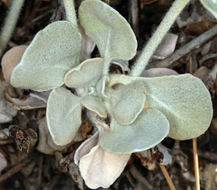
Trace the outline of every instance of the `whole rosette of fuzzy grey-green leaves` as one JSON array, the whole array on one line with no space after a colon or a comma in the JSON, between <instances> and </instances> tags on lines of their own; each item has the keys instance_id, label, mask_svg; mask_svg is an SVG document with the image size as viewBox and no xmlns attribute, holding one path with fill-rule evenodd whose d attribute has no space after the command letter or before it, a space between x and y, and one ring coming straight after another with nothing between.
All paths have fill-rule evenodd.
<instances>
[{"instance_id":1,"label":"whole rosette of fuzzy grey-green leaves","mask_svg":"<svg viewBox=\"0 0 217 190\"><path fill-rule=\"evenodd\" d=\"M72 23L58 21L36 34L10 78L16 88L52 90L46 117L57 145L66 145L75 137L82 107L111 119L110 128L97 141L100 155L105 155L102 150L130 155L157 145L166 136L186 140L207 130L212 103L199 79L189 74L156 78L109 75L112 60L135 56L137 41L132 29L117 11L99 0L83 1L79 20L101 57L79 64L81 35ZM124 157L122 167L128 159ZM108 187L115 179L106 185L88 184Z\"/></svg>"}]
</instances>

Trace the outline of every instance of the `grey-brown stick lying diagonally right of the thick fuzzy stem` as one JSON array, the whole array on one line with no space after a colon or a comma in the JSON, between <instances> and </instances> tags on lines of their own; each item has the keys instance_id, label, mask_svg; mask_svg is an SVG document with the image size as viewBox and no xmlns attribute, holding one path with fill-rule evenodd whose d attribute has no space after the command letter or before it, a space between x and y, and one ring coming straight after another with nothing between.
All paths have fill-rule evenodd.
<instances>
[{"instance_id":1,"label":"grey-brown stick lying diagonally right of the thick fuzzy stem","mask_svg":"<svg viewBox=\"0 0 217 190\"><path fill-rule=\"evenodd\" d=\"M215 25L214 27L212 27L208 31L204 32L203 34L201 34L197 38L193 39L189 43L185 44L180 49L176 50L173 53L173 55L171 55L170 57L168 57L162 61L153 62L149 65L149 67L170 67L170 68L173 68L173 67L177 66L177 64L179 64L176 62L177 60L179 60L181 57L187 55L193 49L200 47L203 43L210 40L211 38L213 38L216 35L217 35L217 25Z\"/></svg>"}]
</instances>

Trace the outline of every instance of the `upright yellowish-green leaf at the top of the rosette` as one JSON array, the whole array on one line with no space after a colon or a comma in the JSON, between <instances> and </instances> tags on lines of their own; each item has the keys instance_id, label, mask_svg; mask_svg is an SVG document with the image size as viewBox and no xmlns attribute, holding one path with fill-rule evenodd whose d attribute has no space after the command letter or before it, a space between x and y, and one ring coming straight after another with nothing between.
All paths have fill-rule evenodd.
<instances>
[{"instance_id":1,"label":"upright yellowish-green leaf at the top of the rosette","mask_svg":"<svg viewBox=\"0 0 217 190\"><path fill-rule=\"evenodd\" d=\"M79 18L103 58L129 60L134 57L136 37L128 22L112 7L99 0L86 0L79 8Z\"/></svg>"}]
</instances>

